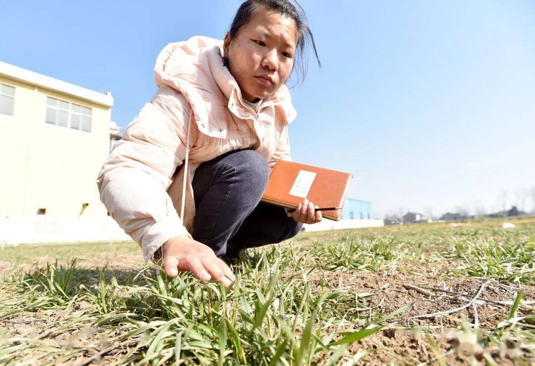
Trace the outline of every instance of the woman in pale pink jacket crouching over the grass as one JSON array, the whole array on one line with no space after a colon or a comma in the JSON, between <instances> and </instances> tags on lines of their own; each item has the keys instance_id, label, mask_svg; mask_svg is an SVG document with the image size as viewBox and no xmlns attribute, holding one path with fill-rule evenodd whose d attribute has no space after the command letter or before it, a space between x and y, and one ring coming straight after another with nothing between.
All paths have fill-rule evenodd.
<instances>
[{"instance_id":1,"label":"woman in pale pink jacket crouching over the grass","mask_svg":"<svg viewBox=\"0 0 535 366\"><path fill-rule=\"evenodd\" d=\"M162 50L156 95L97 178L101 201L145 263L228 286L235 277L220 257L322 220L306 199L291 216L260 202L270 169L290 159L287 125L296 112L285 82L307 39L317 58L288 0L248 0L223 42L196 36Z\"/></svg>"}]
</instances>

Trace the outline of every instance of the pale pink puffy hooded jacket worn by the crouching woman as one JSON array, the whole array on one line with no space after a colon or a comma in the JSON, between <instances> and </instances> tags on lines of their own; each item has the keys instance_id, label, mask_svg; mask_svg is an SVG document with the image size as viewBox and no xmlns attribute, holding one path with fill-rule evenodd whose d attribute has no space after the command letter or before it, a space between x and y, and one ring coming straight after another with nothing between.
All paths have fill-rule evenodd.
<instances>
[{"instance_id":1,"label":"pale pink puffy hooded jacket worn by the crouching woman","mask_svg":"<svg viewBox=\"0 0 535 366\"><path fill-rule=\"evenodd\" d=\"M139 243L145 263L172 237L191 237L199 164L250 147L270 168L291 160L287 126L296 111L287 87L263 100L256 113L243 103L222 52L223 41L209 37L168 44L156 59L156 95L98 173L102 203Z\"/></svg>"}]
</instances>

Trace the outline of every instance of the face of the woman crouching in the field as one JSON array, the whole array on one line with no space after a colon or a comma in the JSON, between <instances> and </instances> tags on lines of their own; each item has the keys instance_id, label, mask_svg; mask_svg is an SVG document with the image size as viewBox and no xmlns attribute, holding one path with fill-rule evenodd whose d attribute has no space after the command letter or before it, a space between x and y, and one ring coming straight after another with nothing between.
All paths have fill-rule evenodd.
<instances>
[{"instance_id":1,"label":"face of the woman crouching in the field","mask_svg":"<svg viewBox=\"0 0 535 366\"><path fill-rule=\"evenodd\" d=\"M256 14L232 42L230 34L225 35L228 68L246 100L269 97L286 82L294 66L297 39L295 20L272 11Z\"/></svg>"}]
</instances>

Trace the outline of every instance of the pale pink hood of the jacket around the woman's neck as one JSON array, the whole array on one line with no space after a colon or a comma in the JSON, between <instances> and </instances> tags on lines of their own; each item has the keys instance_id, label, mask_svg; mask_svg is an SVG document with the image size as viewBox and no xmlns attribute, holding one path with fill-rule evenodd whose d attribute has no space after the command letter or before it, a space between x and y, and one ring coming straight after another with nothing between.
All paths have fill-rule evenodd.
<instances>
[{"instance_id":1,"label":"pale pink hood of the jacket around the woman's neck","mask_svg":"<svg viewBox=\"0 0 535 366\"><path fill-rule=\"evenodd\" d=\"M225 108L239 118L258 121L244 106L238 83L223 65L221 55L223 41L194 36L167 44L156 58L154 72L158 87L167 85L184 95L200 132L225 139L227 125L220 118ZM287 124L297 115L286 85L262 102L262 106L268 105L279 108Z\"/></svg>"}]
</instances>

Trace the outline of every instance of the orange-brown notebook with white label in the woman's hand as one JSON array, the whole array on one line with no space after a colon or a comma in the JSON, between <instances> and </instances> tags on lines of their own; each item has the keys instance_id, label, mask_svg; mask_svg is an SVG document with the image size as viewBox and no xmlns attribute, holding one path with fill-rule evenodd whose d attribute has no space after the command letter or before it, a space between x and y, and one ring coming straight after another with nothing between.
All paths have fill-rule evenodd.
<instances>
[{"instance_id":1,"label":"orange-brown notebook with white label in the woman's hand","mask_svg":"<svg viewBox=\"0 0 535 366\"><path fill-rule=\"evenodd\" d=\"M323 217L338 221L352 179L351 173L279 160L271 171L262 201L294 209L307 198L320 208L338 207L322 211Z\"/></svg>"}]
</instances>

